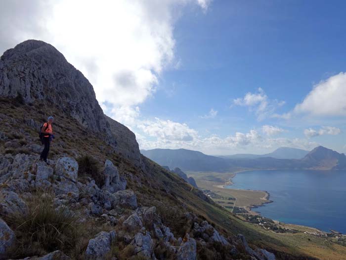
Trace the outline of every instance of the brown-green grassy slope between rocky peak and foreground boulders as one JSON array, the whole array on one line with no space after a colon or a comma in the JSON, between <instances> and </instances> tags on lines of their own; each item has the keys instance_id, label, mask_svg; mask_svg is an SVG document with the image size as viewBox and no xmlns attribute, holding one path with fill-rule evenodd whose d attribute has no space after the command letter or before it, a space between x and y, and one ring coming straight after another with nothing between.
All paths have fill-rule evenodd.
<instances>
[{"instance_id":1,"label":"brown-green grassy slope between rocky peak and foreground boulders","mask_svg":"<svg viewBox=\"0 0 346 260\"><path fill-rule=\"evenodd\" d=\"M44 111L43 107L45 107ZM49 156L58 158L64 155L76 157L89 154L100 161L104 161L106 158L112 159L120 173L126 176L128 187L137 194L139 205L154 205L158 208L176 206L181 212L191 210L199 217L214 223L225 236L244 234L252 245L275 251L277 255L281 256L278 259L307 259L307 256L323 260L345 259L345 247L324 241L322 238L303 233L277 234L242 221L223 208L203 201L196 196L200 193L198 190L145 157L143 160L146 161L147 171L136 168L130 161L114 154L112 149L97 135L84 129L75 120L61 114L54 107L42 104L13 105L8 100L0 100L0 131L4 132L12 141L24 140L22 144L38 144L37 129L27 126L24 122L26 119L32 118L39 123L47 114L55 115L53 128L56 132L56 139L52 143ZM15 118L16 121L11 118ZM23 133L18 134L18 130L14 131L18 128L23 129ZM2 142L0 143L0 154L4 152L4 142ZM8 150L8 152L30 153L25 145ZM177 234L178 228L173 228L173 232Z\"/></svg>"}]
</instances>

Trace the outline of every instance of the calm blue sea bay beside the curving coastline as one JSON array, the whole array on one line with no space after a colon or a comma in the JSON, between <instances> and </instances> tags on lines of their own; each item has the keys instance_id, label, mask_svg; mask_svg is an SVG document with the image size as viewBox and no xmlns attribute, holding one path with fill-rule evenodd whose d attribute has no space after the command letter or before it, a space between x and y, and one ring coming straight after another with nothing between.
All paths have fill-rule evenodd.
<instances>
[{"instance_id":1,"label":"calm blue sea bay beside the curving coastline","mask_svg":"<svg viewBox=\"0 0 346 260\"><path fill-rule=\"evenodd\" d=\"M228 188L269 192L273 203L253 209L264 217L346 234L346 171L254 170L232 182Z\"/></svg>"}]
</instances>

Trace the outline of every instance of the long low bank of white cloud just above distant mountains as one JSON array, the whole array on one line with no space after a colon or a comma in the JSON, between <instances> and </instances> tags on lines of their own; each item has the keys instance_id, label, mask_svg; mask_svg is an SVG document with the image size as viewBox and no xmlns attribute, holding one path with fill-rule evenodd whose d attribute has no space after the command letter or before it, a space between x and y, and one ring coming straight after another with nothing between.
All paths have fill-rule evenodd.
<instances>
[{"instance_id":1,"label":"long low bank of white cloud just above distant mountains","mask_svg":"<svg viewBox=\"0 0 346 260\"><path fill-rule=\"evenodd\" d=\"M180 124L170 120L147 121L138 126L144 134L153 137L152 140L144 138L140 133L136 137L141 149L154 148L185 148L202 151L206 154L231 154L240 151L253 152L264 149L276 149L278 147L294 147L311 150L318 143L307 139L271 138L268 135L261 136L257 130L247 133L236 132L226 137L210 135L202 137L198 131L186 124Z\"/></svg>"}]
</instances>

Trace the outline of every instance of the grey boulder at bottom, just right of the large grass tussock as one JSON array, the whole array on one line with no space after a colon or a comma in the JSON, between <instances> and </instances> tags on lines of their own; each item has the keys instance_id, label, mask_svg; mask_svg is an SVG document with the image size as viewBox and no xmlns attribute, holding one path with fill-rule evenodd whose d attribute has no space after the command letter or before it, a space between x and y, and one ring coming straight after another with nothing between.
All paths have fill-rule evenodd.
<instances>
[{"instance_id":1,"label":"grey boulder at bottom, just right of the large grass tussock","mask_svg":"<svg viewBox=\"0 0 346 260\"><path fill-rule=\"evenodd\" d=\"M115 239L116 233L101 231L94 238L89 240L86 250L87 260L104 259L105 255L111 251L111 242Z\"/></svg>"}]
</instances>

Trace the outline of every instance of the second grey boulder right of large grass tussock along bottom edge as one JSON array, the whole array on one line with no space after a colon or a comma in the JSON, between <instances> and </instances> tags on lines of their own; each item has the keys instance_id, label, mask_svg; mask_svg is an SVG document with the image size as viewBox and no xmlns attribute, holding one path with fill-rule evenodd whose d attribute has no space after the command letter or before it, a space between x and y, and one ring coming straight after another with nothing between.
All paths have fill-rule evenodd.
<instances>
[{"instance_id":1,"label":"second grey boulder right of large grass tussock along bottom edge","mask_svg":"<svg viewBox=\"0 0 346 260\"><path fill-rule=\"evenodd\" d=\"M137 233L130 245L134 246L136 255L142 256L145 259L156 259L154 254L154 242L149 232L146 231L144 234L142 232Z\"/></svg>"}]
</instances>

